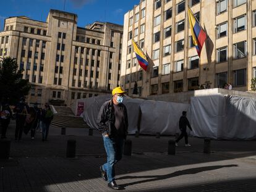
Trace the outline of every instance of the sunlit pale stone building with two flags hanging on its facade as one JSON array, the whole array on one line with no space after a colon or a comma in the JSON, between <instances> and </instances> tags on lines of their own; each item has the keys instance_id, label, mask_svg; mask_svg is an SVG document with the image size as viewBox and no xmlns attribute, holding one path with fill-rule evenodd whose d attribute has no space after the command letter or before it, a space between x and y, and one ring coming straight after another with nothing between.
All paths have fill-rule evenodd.
<instances>
[{"instance_id":1,"label":"sunlit pale stone building with two flags hanging on its facade","mask_svg":"<svg viewBox=\"0 0 256 192\"><path fill-rule=\"evenodd\" d=\"M188 6L208 40L200 59L192 43ZM150 57L148 72L138 65L137 41ZM143 0L124 15L121 85L132 93L176 93L198 85L249 91L256 72L256 1Z\"/></svg>"}]
</instances>

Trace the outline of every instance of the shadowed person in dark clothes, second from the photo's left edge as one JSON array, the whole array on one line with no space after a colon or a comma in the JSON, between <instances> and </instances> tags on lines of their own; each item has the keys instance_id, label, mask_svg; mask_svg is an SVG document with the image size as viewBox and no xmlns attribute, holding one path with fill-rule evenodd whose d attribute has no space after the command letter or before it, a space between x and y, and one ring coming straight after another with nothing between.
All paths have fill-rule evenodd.
<instances>
[{"instance_id":1,"label":"shadowed person in dark clothes, second from the photo's left edge","mask_svg":"<svg viewBox=\"0 0 256 192\"><path fill-rule=\"evenodd\" d=\"M16 113L15 140L19 139L20 141L22 138L25 119L29 112L29 107L25 104L25 98L20 98L19 103L14 108L14 112Z\"/></svg>"}]
</instances>

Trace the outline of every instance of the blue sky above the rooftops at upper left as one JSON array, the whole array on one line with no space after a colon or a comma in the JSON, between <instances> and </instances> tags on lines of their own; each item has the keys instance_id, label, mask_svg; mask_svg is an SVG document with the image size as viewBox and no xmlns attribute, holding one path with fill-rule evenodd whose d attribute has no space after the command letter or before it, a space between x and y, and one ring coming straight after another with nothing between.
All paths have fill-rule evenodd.
<instances>
[{"instance_id":1,"label":"blue sky above the rooftops at upper left","mask_svg":"<svg viewBox=\"0 0 256 192\"><path fill-rule=\"evenodd\" d=\"M0 30L4 19L25 15L34 20L46 21L50 9L64 10L65 0L0 0ZM96 20L123 24L124 14L139 4L140 0L66 0L67 12L78 15L79 27L85 27ZM4 7L4 9L3 9Z\"/></svg>"}]
</instances>

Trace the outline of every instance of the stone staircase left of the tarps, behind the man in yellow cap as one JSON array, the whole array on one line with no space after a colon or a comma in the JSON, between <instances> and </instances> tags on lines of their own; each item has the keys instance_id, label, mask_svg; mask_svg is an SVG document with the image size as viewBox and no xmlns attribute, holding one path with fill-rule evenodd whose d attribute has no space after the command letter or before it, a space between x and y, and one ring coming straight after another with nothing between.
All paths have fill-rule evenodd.
<instances>
[{"instance_id":1,"label":"stone staircase left of the tarps, behind the man in yellow cap","mask_svg":"<svg viewBox=\"0 0 256 192\"><path fill-rule=\"evenodd\" d=\"M82 117L75 116L69 107L51 106L51 110L54 113L52 127L90 128Z\"/></svg>"}]
</instances>

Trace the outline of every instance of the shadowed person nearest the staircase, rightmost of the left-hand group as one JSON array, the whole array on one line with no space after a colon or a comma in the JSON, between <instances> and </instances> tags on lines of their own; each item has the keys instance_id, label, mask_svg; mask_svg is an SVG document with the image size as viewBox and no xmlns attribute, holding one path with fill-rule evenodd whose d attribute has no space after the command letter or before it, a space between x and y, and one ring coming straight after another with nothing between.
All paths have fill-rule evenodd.
<instances>
[{"instance_id":1,"label":"shadowed person nearest the staircase, rightmost of the left-hand group","mask_svg":"<svg viewBox=\"0 0 256 192\"><path fill-rule=\"evenodd\" d=\"M51 125L51 120L53 120L53 112L51 111L48 104L45 105L45 109L42 114L43 119L43 130L42 130L42 141L47 141L49 126Z\"/></svg>"}]
</instances>

